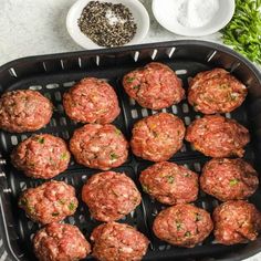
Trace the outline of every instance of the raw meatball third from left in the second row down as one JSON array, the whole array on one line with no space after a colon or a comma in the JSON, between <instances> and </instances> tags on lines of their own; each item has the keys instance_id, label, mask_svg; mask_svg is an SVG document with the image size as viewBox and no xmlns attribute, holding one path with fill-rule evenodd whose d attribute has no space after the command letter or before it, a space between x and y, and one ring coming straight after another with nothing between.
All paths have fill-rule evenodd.
<instances>
[{"instance_id":1,"label":"raw meatball third from left in the second row down","mask_svg":"<svg viewBox=\"0 0 261 261\"><path fill-rule=\"evenodd\" d=\"M137 122L133 128L133 153L152 161L168 160L182 146L185 126L180 118L158 113Z\"/></svg>"}]
</instances>

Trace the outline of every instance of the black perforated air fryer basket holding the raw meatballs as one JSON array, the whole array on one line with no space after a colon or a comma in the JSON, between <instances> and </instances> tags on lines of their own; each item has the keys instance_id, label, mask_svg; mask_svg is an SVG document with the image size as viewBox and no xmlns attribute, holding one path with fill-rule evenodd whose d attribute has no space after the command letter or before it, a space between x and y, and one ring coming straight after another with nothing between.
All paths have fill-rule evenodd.
<instances>
[{"instance_id":1,"label":"black perforated air fryer basket holding the raw meatballs","mask_svg":"<svg viewBox=\"0 0 261 261\"><path fill-rule=\"evenodd\" d=\"M40 91L52 100L55 109L51 123L36 133L52 133L69 139L72 132L81 125L65 116L61 102L62 94L75 81L84 76L105 79L115 87L122 107L122 114L114 124L129 139L133 124L156 112L142 108L129 100L123 92L121 80L125 73L152 61L163 62L173 67L184 81L185 88L187 88L187 80L190 76L218 66L230 71L248 86L247 101L240 108L226 116L236 118L250 129L251 143L247 146L244 158L261 173L259 164L261 161L261 75L248 60L222 45L202 41L176 41L20 59L0 67L0 94L18 88ZM178 115L186 125L200 115L187 104L187 101L163 111ZM42 180L24 177L11 166L9 159L11 149L30 135L32 134L0 132L0 261L35 260L30 241L40 227L18 209L17 199L22 190L35 187ZM192 170L200 173L202 164L208 158L192 150L190 145L185 142L182 149L170 160L187 165ZM125 171L140 189L137 182L138 174L149 165L152 163L137 159L130 154L127 163L115 170ZM94 173L98 173L98 170L84 168L72 160L70 168L55 179L72 184L76 188L80 199L81 187ZM261 210L260 188L250 198L250 201ZM199 199L196 201L197 206L210 212L218 203L216 199L203 192L200 192ZM144 260L242 260L261 250L261 237L254 242L232 247L218 244L213 241L212 236L194 249L170 247L159 241L150 229L156 213L161 208L163 205L143 194L143 203L125 220L121 220L121 222L137 227L149 238L152 243ZM98 225L97 221L90 218L87 208L82 202L76 213L67 218L65 222L79 226L86 238Z\"/></svg>"}]
</instances>

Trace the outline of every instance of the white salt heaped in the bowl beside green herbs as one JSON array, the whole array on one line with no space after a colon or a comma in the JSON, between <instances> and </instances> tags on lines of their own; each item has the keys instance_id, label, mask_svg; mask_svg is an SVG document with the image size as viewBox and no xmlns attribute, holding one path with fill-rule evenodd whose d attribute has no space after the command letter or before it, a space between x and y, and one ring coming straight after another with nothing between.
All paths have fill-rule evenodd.
<instances>
[{"instance_id":1,"label":"white salt heaped in the bowl beside green herbs","mask_svg":"<svg viewBox=\"0 0 261 261\"><path fill-rule=\"evenodd\" d=\"M219 0L175 0L175 17L188 28L208 24L219 9Z\"/></svg>"}]
</instances>

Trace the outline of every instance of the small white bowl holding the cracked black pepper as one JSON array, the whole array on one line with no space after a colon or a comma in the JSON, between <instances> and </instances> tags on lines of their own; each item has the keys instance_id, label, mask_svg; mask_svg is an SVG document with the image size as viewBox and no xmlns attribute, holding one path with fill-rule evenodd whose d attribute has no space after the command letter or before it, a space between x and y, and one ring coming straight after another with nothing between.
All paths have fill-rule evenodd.
<instances>
[{"instance_id":1,"label":"small white bowl holding the cracked black pepper","mask_svg":"<svg viewBox=\"0 0 261 261\"><path fill-rule=\"evenodd\" d=\"M84 49L102 49L94 43L90 38L83 34L77 25L77 20L82 14L83 9L92 0L77 0L69 10L66 17L66 28L72 39ZM100 2L122 3L129 9L137 24L137 31L134 38L125 45L140 43L146 36L149 29L149 17L145 7L138 0L100 0Z\"/></svg>"}]
</instances>

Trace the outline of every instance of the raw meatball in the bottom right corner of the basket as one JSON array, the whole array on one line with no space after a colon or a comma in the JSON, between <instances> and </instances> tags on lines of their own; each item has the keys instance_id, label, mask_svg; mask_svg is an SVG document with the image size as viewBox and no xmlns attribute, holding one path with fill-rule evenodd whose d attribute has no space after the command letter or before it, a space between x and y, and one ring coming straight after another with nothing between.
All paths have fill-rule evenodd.
<instances>
[{"instance_id":1,"label":"raw meatball in the bottom right corner of the basket","mask_svg":"<svg viewBox=\"0 0 261 261\"><path fill-rule=\"evenodd\" d=\"M222 244L255 240L261 230L261 215L254 205L243 200L227 201L213 211L216 240Z\"/></svg>"}]
</instances>

